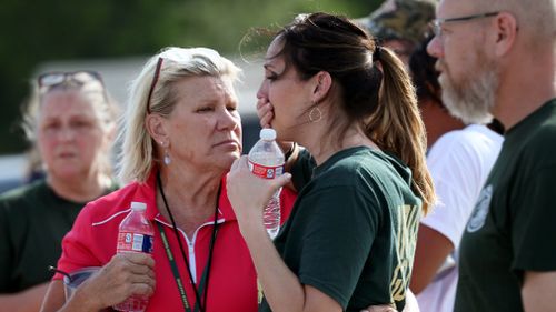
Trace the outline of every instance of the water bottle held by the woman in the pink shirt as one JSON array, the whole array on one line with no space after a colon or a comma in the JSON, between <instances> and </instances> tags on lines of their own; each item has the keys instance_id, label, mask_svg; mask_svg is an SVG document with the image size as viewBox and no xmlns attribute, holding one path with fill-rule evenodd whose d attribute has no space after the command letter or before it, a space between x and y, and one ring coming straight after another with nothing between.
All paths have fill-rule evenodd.
<instances>
[{"instance_id":1,"label":"water bottle held by the woman in the pink shirt","mask_svg":"<svg viewBox=\"0 0 556 312\"><path fill-rule=\"evenodd\" d=\"M155 230L145 215L147 204L143 202L131 202L131 211L121 221L118 232L118 253L143 252L152 253L152 236ZM118 311L142 312L147 309L149 298L145 295L131 295L126 301L113 305Z\"/></svg>"}]
</instances>

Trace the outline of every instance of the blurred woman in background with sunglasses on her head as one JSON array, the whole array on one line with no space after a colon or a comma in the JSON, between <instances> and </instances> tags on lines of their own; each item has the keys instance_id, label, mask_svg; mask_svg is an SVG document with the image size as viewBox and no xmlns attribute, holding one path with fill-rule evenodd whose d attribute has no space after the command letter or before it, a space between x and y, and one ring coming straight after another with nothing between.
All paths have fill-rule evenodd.
<instances>
[{"instance_id":1,"label":"blurred woman in background with sunglasses on her head","mask_svg":"<svg viewBox=\"0 0 556 312\"><path fill-rule=\"evenodd\" d=\"M6 311L38 311L48 266L81 208L117 189L110 164L117 112L97 72L48 72L33 81L24 128L46 174L0 197Z\"/></svg>"}]
</instances>

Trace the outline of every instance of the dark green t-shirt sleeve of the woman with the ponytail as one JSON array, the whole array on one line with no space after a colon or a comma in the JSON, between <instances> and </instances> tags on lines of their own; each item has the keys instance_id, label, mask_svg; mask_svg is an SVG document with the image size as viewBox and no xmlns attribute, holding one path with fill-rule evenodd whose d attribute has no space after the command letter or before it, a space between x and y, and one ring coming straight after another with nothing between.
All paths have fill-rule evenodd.
<instances>
[{"instance_id":1,"label":"dark green t-shirt sleeve of the woman with the ponytail","mask_svg":"<svg viewBox=\"0 0 556 312\"><path fill-rule=\"evenodd\" d=\"M304 220L299 280L315 286L346 309L378 228L378 213L369 198L351 187L310 192L299 211Z\"/></svg>"}]
</instances>

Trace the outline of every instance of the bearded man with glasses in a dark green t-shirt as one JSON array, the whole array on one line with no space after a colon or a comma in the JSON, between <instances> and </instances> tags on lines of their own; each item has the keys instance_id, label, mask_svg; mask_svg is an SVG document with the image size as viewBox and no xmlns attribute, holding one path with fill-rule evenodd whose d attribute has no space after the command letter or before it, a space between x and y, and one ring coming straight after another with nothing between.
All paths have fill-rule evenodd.
<instances>
[{"instance_id":1,"label":"bearded man with glasses in a dark green t-shirt","mask_svg":"<svg viewBox=\"0 0 556 312\"><path fill-rule=\"evenodd\" d=\"M448 109L506 129L461 240L455 311L555 311L556 3L441 0L434 29Z\"/></svg>"}]
</instances>

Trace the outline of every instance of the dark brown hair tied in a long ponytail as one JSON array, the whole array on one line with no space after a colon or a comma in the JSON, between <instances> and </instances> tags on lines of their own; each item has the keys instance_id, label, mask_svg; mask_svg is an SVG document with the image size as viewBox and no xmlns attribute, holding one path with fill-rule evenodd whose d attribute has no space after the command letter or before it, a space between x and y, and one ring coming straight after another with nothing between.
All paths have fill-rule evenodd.
<instances>
[{"instance_id":1,"label":"dark brown hair tied in a long ponytail","mask_svg":"<svg viewBox=\"0 0 556 312\"><path fill-rule=\"evenodd\" d=\"M350 125L359 124L380 149L394 153L411 169L411 187L423 199L426 212L435 195L425 162L425 128L401 61L339 16L299 16L277 38L284 46L275 57L284 57L301 79L320 71L331 76L337 85L332 85L331 93L339 100L338 109L347 115L347 122L330 121L331 127L340 128L335 133L338 142Z\"/></svg>"}]
</instances>

